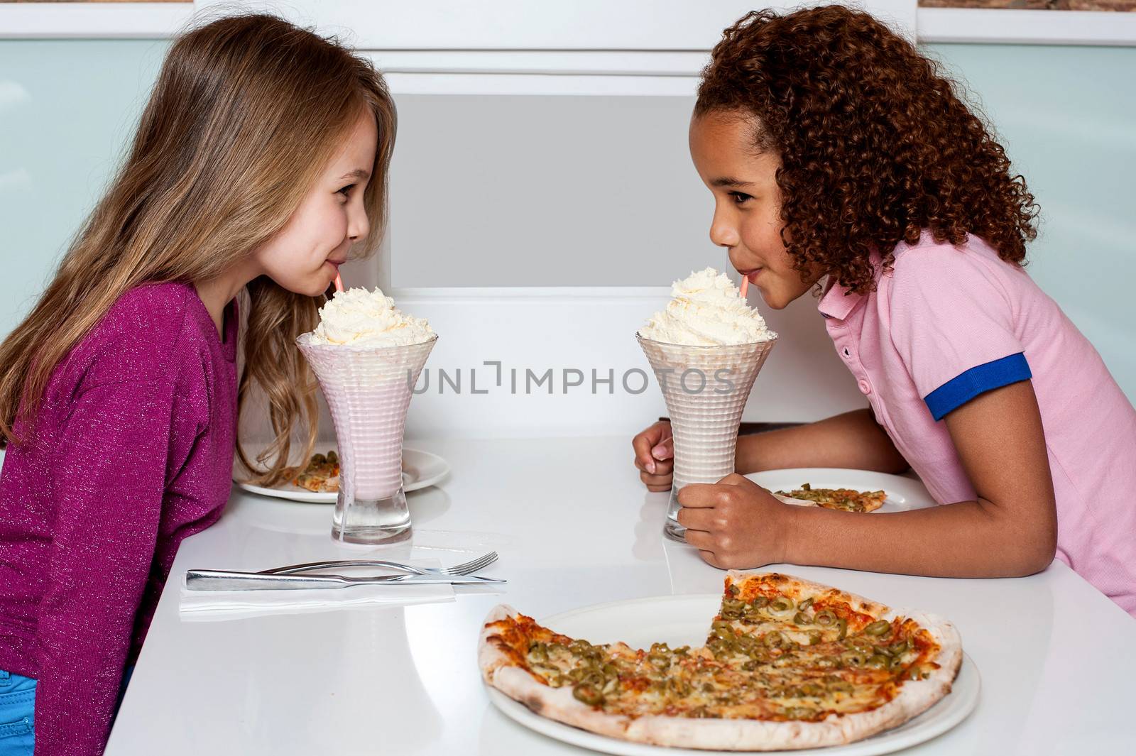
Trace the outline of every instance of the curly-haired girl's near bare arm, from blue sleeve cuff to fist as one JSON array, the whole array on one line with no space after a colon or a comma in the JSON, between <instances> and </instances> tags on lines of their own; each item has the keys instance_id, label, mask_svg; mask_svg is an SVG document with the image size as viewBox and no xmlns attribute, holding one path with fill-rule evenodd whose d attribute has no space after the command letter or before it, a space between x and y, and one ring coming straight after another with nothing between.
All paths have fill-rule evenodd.
<instances>
[{"instance_id":1,"label":"curly-haired girl's near bare arm, from blue sleeve cuff to fist","mask_svg":"<svg viewBox=\"0 0 1136 756\"><path fill-rule=\"evenodd\" d=\"M1044 570L1056 551L1056 504L1033 384L983 394L945 421L977 501L858 514L782 504L730 476L679 493L686 539L720 568L790 562L955 578Z\"/></svg>"}]
</instances>

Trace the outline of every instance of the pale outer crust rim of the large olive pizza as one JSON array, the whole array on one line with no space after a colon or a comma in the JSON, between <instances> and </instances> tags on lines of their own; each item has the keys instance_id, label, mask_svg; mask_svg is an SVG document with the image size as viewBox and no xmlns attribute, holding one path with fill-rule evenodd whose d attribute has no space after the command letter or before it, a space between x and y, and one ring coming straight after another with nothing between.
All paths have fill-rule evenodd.
<instances>
[{"instance_id":1,"label":"pale outer crust rim of the large olive pizza","mask_svg":"<svg viewBox=\"0 0 1136 756\"><path fill-rule=\"evenodd\" d=\"M712 720L646 715L628 717L609 714L577 700L571 689L552 688L526 670L513 665L511 657L494 642L494 622L516 616L518 612L501 604L485 618L477 657L487 684L493 686L529 709L558 722L611 738L657 746L710 750L795 750L838 746L862 740L897 726L921 714L949 692L962 663L962 642L955 627L947 620L925 612L891 608L863 596L850 594L810 580L778 573L746 573L730 570L726 585L762 578L804 594L832 595L847 602L857 612L878 619L904 616L926 629L939 646L927 679L907 680L899 695L883 706L857 714L829 714L821 722L774 722L762 720Z\"/></svg>"}]
</instances>

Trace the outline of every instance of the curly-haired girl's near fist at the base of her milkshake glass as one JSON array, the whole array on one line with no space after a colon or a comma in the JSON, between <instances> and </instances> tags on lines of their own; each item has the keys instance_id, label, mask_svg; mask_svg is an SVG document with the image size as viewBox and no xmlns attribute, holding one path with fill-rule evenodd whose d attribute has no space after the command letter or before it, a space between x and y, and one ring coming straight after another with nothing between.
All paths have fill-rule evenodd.
<instances>
[{"instance_id":1,"label":"curly-haired girl's near fist at the base of her milkshake glass","mask_svg":"<svg viewBox=\"0 0 1136 756\"><path fill-rule=\"evenodd\" d=\"M722 570L745 570L785 561L785 534L793 507L744 476L691 484L678 492L678 522L686 543Z\"/></svg>"}]
</instances>

